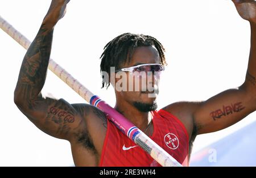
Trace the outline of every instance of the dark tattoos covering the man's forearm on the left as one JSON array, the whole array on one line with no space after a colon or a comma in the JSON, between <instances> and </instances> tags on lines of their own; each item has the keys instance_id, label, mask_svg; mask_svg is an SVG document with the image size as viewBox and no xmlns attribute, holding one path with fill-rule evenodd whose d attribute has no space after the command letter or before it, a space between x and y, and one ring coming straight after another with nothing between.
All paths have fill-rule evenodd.
<instances>
[{"instance_id":1,"label":"dark tattoos covering the man's forearm on the left","mask_svg":"<svg viewBox=\"0 0 256 178\"><path fill-rule=\"evenodd\" d=\"M51 54L53 29L49 31L44 25L39 29L35 40L28 48L20 68L15 96L31 101L42 90ZM26 98L24 98L24 96Z\"/></svg>"}]
</instances>

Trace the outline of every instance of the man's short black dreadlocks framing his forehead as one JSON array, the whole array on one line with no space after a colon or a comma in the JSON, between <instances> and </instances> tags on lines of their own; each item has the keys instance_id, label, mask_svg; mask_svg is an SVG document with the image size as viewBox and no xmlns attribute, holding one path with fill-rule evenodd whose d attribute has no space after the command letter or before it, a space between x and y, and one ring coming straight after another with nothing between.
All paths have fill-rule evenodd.
<instances>
[{"instance_id":1,"label":"man's short black dreadlocks framing his forehead","mask_svg":"<svg viewBox=\"0 0 256 178\"><path fill-rule=\"evenodd\" d=\"M131 56L134 53L135 48L139 46L151 46L154 45L158 50L160 56L160 62L162 65L167 65L166 58L164 56L165 49L163 45L152 36L148 35L136 35L133 33L123 33L115 37L112 41L104 47L104 52L101 54L101 76L102 76L102 88L109 87L110 82L106 83L102 71L106 71L110 75L110 67L119 69L119 65L131 60Z\"/></svg>"}]
</instances>

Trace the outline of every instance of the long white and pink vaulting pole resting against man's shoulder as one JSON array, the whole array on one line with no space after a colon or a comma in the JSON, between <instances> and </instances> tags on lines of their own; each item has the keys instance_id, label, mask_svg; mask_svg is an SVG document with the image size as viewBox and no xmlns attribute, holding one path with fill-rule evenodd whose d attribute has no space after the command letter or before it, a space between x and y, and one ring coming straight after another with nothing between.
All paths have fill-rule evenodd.
<instances>
[{"instance_id":1,"label":"long white and pink vaulting pole resting against man's shoulder","mask_svg":"<svg viewBox=\"0 0 256 178\"><path fill-rule=\"evenodd\" d=\"M6 20L0 16L0 27L8 35L13 37L20 45L25 49L28 49L31 42L19 33L13 26L11 26ZM88 103L94 105L95 107L100 108L106 113L109 120L112 121L115 126L121 132L127 135L132 141L134 141L138 146L148 154L152 156L159 164L162 166L182 166L177 160L175 160L171 155L168 154L165 150L157 145L152 139L150 139L146 134L139 130L135 125L133 125L127 118L115 111L114 108L110 107L105 101L101 100L97 95L94 95L86 87L72 77L67 71L65 71L61 66L59 66L52 59L49 60L48 65L49 70L57 75L63 82L67 83L74 91L77 92L82 98L84 98Z\"/></svg>"}]
</instances>

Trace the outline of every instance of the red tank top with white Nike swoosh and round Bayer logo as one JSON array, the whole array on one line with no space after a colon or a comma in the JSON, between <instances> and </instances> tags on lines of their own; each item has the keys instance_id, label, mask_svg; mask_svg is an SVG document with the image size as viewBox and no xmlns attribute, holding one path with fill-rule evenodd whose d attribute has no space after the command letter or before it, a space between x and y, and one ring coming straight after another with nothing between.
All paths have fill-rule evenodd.
<instances>
[{"instance_id":1,"label":"red tank top with white Nike swoosh and round Bayer logo","mask_svg":"<svg viewBox=\"0 0 256 178\"><path fill-rule=\"evenodd\" d=\"M183 166L188 166L188 133L184 125L171 113L152 111L154 132L150 137ZM146 151L135 145L108 120L99 166L150 167L160 166Z\"/></svg>"}]
</instances>

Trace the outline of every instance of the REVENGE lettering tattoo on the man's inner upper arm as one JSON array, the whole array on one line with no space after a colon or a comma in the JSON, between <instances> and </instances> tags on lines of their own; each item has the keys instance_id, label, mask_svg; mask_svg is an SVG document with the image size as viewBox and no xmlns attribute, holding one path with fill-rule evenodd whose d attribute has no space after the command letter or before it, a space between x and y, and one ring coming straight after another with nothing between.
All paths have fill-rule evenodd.
<instances>
[{"instance_id":1,"label":"REVENGE lettering tattoo on the man's inner upper arm","mask_svg":"<svg viewBox=\"0 0 256 178\"><path fill-rule=\"evenodd\" d=\"M223 105L222 109L217 109L211 112L210 116L213 118L214 121L216 121L217 118L232 115L233 113L240 112L243 109L245 109L245 107L243 107L242 102L238 102L228 106Z\"/></svg>"}]
</instances>

